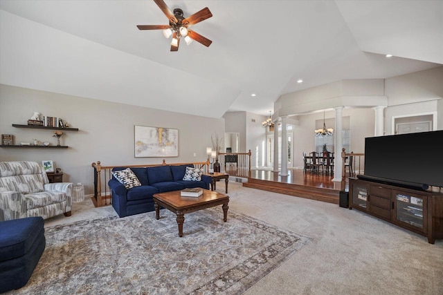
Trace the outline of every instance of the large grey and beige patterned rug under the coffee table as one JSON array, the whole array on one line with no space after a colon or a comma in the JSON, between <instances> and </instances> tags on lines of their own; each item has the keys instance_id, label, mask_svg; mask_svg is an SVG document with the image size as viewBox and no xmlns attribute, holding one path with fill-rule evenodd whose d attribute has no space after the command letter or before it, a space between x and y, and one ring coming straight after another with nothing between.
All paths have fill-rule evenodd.
<instances>
[{"instance_id":1,"label":"large grey and beige patterned rug under the coffee table","mask_svg":"<svg viewBox=\"0 0 443 295\"><path fill-rule=\"evenodd\" d=\"M161 210L48 227L28 284L10 294L242 294L310 238L241 213Z\"/></svg>"}]
</instances>

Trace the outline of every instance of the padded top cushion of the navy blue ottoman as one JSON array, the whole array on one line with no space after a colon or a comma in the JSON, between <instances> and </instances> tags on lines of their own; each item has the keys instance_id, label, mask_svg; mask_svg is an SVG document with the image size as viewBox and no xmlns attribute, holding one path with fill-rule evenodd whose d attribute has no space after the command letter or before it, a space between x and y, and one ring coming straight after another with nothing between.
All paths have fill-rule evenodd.
<instances>
[{"instance_id":1,"label":"padded top cushion of the navy blue ottoman","mask_svg":"<svg viewBox=\"0 0 443 295\"><path fill-rule=\"evenodd\" d=\"M42 217L0 222L0 261L24 256L44 231Z\"/></svg>"}]
</instances>

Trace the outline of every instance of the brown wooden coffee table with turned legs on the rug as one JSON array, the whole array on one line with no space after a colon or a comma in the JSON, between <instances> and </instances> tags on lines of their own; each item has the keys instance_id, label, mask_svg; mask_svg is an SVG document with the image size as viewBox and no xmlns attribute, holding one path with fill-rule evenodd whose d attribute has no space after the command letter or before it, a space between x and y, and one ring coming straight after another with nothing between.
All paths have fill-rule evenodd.
<instances>
[{"instance_id":1,"label":"brown wooden coffee table with turned legs on the rug","mask_svg":"<svg viewBox=\"0 0 443 295\"><path fill-rule=\"evenodd\" d=\"M179 225L179 236L183 236L183 222L185 222L185 213L198 211L210 207L222 205L223 221L228 220L228 202L229 196L225 196L217 191L203 190L203 195L193 197L182 197L180 191L168 191L165 193L156 193L154 198L154 208L156 219L160 219L160 207L166 208L177 214L177 224Z\"/></svg>"}]
</instances>

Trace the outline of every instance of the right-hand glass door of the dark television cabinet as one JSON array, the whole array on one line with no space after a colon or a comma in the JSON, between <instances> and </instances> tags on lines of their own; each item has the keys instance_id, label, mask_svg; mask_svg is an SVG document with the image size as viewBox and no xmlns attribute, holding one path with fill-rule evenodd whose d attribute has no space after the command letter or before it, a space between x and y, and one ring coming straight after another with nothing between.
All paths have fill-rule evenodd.
<instances>
[{"instance_id":1,"label":"right-hand glass door of the dark television cabinet","mask_svg":"<svg viewBox=\"0 0 443 295\"><path fill-rule=\"evenodd\" d=\"M395 191L395 220L426 232L426 198L413 193Z\"/></svg>"}]
</instances>

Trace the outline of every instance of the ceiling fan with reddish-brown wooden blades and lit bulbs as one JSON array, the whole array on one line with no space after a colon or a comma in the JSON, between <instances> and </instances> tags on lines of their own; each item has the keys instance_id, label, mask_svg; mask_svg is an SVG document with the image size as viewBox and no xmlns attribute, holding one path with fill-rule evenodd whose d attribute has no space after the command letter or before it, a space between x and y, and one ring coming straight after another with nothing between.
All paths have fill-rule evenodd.
<instances>
[{"instance_id":1,"label":"ceiling fan with reddish-brown wooden blades and lit bulbs","mask_svg":"<svg viewBox=\"0 0 443 295\"><path fill-rule=\"evenodd\" d=\"M181 38L185 39L186 44L188 45L192 40L195 40L206 47L209 47L210 44L213 43L210 39L199 35L193 30L189 30L190 26L213 16L213 14L210 13L209 8L203 8L202 10L195 12L195 14L185 18L183 17L183 10L180 8L175 8L174 13L172 13L165 1L154 0L154 2L159 6L161 11L163 11L166 17L168 17L169 25L139 25L137 26L138 30L163 30L163 35L166 38L169 38L172 35L171 51L179 50Z\"/></svg>"}]
</instances>

